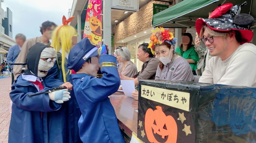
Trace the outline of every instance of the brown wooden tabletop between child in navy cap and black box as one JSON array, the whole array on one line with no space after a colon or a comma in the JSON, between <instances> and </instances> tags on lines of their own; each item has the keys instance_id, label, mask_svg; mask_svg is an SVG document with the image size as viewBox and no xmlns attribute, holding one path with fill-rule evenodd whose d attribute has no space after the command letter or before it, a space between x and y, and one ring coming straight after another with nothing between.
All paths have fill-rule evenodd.
<instances>
[{"instance_id":1,"label":"brown wooden tabletop between child in navy cap and black box","mask_svg":"<svg viewBox=\"0 0 256 143\"><path fill-rule=\"evenodd\" d=\"M130 136L132 132L137 134L138 100L125 96L123 93L114 93L109 98L115 109L119 126Z\"/></svg>"}]
</instances>

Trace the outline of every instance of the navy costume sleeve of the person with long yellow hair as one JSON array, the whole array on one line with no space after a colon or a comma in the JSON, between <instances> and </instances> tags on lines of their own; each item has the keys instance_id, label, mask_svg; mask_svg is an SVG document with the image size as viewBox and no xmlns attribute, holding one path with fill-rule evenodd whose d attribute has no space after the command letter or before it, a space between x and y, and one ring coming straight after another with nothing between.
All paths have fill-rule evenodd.
<instances>
[{"instance_id":1,"label":"navy costume sleeve of the person with long yellow hair","mask_svg":"<svg viewBox=\"0 0 256 143\"><path fill-rule=\"evenodd\" d=\"M45 84L47 87L58 87L61 86L64 82L58 79L58 64L55 62L54 66L48 71L45 77Z\"/></svg>"}]
</instances>

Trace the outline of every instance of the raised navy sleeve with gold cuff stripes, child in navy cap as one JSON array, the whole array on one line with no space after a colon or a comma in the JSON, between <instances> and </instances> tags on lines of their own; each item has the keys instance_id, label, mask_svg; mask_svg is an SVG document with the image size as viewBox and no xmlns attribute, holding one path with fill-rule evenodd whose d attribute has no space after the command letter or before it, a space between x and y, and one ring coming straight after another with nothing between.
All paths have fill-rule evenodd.
<instances>
[{"instance_id":1,"label":"raised navy sleeve with gold cuff stripes, child in navy cap","mask_svg":"<svg viewBox=\"0 0 256 143\"><path fill-rule=\"evenodd\" d=\"M120 86L120 77L116 67L116 58L112 55L100 56L102 78L82 79L79 89L91 102L104 100L115 93ZM86 93L85 93L86 92Z\"/></svg>"}]
</instances>

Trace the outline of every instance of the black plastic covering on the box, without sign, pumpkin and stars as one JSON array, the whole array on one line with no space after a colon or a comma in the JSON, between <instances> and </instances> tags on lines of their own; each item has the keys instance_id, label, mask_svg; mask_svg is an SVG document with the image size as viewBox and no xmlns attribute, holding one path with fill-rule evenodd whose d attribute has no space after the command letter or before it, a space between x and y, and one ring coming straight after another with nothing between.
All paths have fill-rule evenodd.
<instances>
[{"instance_id":1,"label":"black plastic covering on the box, without sign, pumpkin and stars","mask_svg":"<svg viewBox=\"0 0 256 143\"><path fill-rule=\"evenodd\" d=\"M190 93L189 112L141 97L141 85ZM161 96L161 95L157 95ZM256 88L214 85L194 82L140 80L138 102L139 139L150 143L145 131L145 113L161 106L166 116L177 123L177 143L249 143L256 142ZM181 123L178 113L184 113ZM142 121L142 127L139 126ZM190 125L191 134L186 136L184 125ZM165 127L166 128L166 127ZM167 127L168 130L168 127ZM153 129L152 129L153 132ZM154 134L157 142L165 139ZM167 143L167 142L166 142Z\"/></svg>"}]
</instances>

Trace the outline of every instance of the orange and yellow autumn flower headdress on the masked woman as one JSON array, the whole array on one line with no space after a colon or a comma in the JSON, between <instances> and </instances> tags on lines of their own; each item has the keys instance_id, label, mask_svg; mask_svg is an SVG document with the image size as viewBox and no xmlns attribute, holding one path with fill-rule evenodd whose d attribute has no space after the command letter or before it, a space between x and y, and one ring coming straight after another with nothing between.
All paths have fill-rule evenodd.
<instances>
[{"instance_id":1,"label":"orange and yellow autumn flower headdress on the masked woman","mask_svg":"<svg viewBox=\"0 0 256 143\"><path fill-rule=\"evenodd\" d=\"M169 30L166 30L163 27L156 27L156 30L152 29L151 31L152 35L150 37L150 43L147 48L151 49L153 55L155 55L153 47L156 44L162 44L163 42L167 42L170 45L175 46L177 39L174 38L172 32L169 32Z\"/></svg>"}]
</instances>

